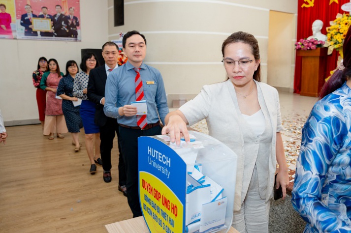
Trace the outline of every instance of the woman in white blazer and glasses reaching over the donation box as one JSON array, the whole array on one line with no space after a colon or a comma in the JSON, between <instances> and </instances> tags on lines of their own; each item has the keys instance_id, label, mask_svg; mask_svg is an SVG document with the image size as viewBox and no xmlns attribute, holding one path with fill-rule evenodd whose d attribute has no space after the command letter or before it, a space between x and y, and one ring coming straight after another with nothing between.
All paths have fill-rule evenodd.
<instances>
[{"instance_id":1,"label":"woman in white blazer and glasses reaching over the donation box","mask_svg":"<svg viewBox=\"0 0 351 233\"><path fill-rule=\"evenodd\" d=\"M289 183L278 91L260 82L258 43L238 31L224 40L223 65L228 79L201 92L165 118L162 134L180 144L190 141L187 125L206 118L209 134L238 155L233 227L241 233L268 233L270 199L276 188L283 198Z\"/></svg>"}]
</instances>

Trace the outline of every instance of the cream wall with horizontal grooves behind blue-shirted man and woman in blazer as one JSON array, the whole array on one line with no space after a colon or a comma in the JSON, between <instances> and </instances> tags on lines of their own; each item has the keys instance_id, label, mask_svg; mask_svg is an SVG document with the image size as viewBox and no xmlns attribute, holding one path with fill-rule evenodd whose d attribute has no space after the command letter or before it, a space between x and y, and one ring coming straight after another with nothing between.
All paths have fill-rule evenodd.
<instances>
[{"instance_id":1,"label":"cream wall with horizontal grooves behind blue-shirted man and woman in blazer","mask_svg":"<svg viewBox=\"0 0 351 233\"><path fill-rule=\"evenodd\" d=\"M108 5L109 39L120 31L143 33L145 62L160 70L168 95L198 93L225 80L221 46L238 30L257 38L267 82L269 12L297 13L297 0L125 0L125 25L114 27L113 0Z\"/></svg>"}]
</instances>

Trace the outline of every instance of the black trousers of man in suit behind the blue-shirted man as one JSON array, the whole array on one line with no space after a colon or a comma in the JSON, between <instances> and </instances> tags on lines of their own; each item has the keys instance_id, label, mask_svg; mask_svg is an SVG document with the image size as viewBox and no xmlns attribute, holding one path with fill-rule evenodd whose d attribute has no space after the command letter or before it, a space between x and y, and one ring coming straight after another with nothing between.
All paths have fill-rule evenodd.
<instances>
[{"instance_id":1,"label":"black trousers of man in suit behind the blue-shirted man","mask_svg":"<svg viewBox=\"0 0 351 233\"><path fill-rule=\"evenodd\" d=\"M119 185L126 185L127 174L126 166L123 160L122 150L121 150L121 137L118 130L117 120L111 117L107 118L106 124L100 127L100 154L102 160L102 168L104 171L110 171L111 165L111 150L113 147L113 139L115 138L115 132L118 137L118 151L119 151L119 161L118 161L118 176Z\"/></svg>"}]
</instances>

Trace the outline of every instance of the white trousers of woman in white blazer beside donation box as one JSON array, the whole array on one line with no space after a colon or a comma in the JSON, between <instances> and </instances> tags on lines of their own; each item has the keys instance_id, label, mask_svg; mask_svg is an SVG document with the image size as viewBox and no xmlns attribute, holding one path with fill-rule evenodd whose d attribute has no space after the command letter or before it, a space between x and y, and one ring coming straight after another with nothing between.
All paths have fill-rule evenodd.
<instances>
[{"instance_id":1,"label":"white trousers of woman in white blazer beside donation box","mask_svg":"<svg viewBox=\"0 0 351 233\"><path fill-rule=\"evenodd\" d=\"M241 209L234 212L232 226L240 233L268 233L270 201L259 196L256 166Z\"/></svg>"}]
</instances>

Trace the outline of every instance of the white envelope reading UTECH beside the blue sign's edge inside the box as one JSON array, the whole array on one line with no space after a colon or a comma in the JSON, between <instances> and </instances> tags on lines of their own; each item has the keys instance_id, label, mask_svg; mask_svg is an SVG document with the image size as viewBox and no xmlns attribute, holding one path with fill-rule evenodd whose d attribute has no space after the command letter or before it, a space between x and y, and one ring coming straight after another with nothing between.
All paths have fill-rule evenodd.
<instances>
[{"instance_id":1,"label":"white envelope reading UTECH beside the blue sign's edge inside the box","mask_svg":"<svg viewBox=\"0 0 351 233\"><path fill-rule=\"evenodd\" d=\"M199 221L201 218L202 204L209 203L211 200L211 187L210 185L201 185L193 187L193 189L186 195L186 212L185 212L185 225Z\"/></svg>"}]
</instances>

